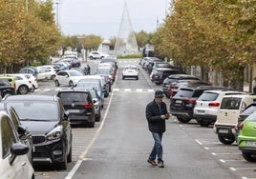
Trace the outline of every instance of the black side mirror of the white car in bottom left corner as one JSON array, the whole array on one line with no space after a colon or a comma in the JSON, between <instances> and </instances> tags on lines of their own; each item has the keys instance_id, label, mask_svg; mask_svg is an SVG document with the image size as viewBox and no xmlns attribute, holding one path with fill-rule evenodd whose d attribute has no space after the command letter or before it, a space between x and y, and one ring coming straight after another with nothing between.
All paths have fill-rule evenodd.
<instances>
[{"instance_id":1,"label":"black side mirror of the white car in bottom left corner","mask_svg":"<svg viewBox=\"0 0 256 179\"><path fill-rule=\"evenodd\" d=\"M25 155L29 151L29 147L25 144L15 143L11 145L11 157L9 159L10 165L13 164L16 156Z\"/></svg>"}]
</instances>

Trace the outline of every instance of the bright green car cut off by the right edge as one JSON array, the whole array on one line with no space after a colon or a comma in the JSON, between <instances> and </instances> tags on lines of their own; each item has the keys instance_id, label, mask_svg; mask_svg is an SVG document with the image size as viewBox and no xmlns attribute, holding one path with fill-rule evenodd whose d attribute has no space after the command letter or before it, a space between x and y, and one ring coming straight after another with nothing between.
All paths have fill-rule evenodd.
<instances>
[{"instance_id":1,"label":"bright green car cut off by the right edge","mask_svg":"<svg viewBox=\"0 0 256 179\"><path fill-rule=\"evenodd\" d=\"M238 148L246 161L256 162L256 112L250 114L243 123L239 125Z\"/></svg>"}]
</instances>

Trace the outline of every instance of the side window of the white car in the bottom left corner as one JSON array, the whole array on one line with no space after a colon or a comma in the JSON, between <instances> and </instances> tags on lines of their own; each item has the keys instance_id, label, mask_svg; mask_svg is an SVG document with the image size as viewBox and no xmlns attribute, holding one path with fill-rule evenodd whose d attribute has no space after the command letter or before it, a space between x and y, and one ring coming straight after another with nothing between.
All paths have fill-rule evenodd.
<instances>
[{"instance_id":1,"label":"side window of the white car in the bottom left corner","mask_svg":"<svg viewBox=\"0 0 256 179\"><path fill-rule=\"evenodd\" d=\"M17 143L14 130L11 128L11 123L7 117L1 121L1 136L2 136L2 157L5 158L11 150L11 145Z\"/></svg>"}]
</instances>

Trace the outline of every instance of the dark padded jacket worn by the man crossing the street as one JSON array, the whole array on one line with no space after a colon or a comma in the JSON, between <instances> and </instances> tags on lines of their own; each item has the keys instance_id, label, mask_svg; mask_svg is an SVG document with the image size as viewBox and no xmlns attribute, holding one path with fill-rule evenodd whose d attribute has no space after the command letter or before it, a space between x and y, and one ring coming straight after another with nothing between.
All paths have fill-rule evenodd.
<instances>
[{"instance_id":1,"label":"dark padded jacket worn by the man crossing the street","mask_svg":"<svg viewBox=\"0 0 256 179\"><path fill-rule=\"evenodd\" d=\"M166 104L164 102L160 103L160 109L155 100L150 102L146 107L145 112L148 121L148 129L150 131L159 133L165 131L165 120L160 118L160 115L167 114Z\"/></svg>"}]
</instances>

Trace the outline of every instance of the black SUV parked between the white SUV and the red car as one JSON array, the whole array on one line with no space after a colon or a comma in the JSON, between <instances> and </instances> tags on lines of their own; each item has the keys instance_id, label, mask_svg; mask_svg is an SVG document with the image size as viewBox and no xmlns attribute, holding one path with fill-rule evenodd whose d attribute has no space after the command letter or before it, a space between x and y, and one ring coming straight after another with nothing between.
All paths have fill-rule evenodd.
<instances>
[{"instance_id":1,"label":"black SUV parked between the white SUV and the red car","mask_svg":"<svg viewBox=\"0 0 256 179\"><path fill-rule=\"evenodd\" d=\"M224 87L201 86L181 88L171 99L170 112L176 116L181 123L188 123L194 118L194 107L196 100L203 94L204 90L224 89Z\"/></svg>"}]
</instances>

